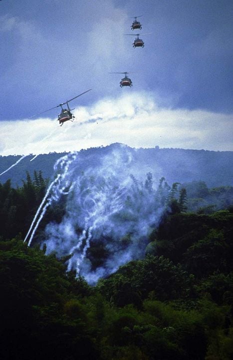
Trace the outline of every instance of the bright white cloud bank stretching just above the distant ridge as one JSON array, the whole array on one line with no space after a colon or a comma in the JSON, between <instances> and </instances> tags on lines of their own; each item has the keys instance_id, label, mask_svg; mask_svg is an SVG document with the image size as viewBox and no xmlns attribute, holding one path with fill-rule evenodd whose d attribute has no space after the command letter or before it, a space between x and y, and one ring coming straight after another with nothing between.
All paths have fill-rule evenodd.
<instances>
[{"instance_id":1,"label":"bright white cloud bank stretching just above the distant ridge","mask_svg":"<svg viewBox=\"0 0 233 360\"><path fill-rule=\"evenodd\" d=\"M0 154L73 151L114 142L132 147L233 150L232 115L162 107L152 93L103 98L74 111L73 122L56 118L1 121Z\"/></svg>"}]
</instances>

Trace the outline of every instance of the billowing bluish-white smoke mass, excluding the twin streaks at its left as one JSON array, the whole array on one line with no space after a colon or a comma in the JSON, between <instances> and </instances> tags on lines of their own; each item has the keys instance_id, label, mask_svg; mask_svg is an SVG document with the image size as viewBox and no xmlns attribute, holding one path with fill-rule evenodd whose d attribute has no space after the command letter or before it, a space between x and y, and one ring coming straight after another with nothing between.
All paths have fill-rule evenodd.
<instances>
[{"instance_id":1,"label":"billowing bluish-white smoke mass, excluding the twin streaks at its left","mask_svg":"<svg viewBox=\"0 0 233 360\"><path fill-rule=\"evenodd\" d=\"M64 172L51 196L58 200L66 193L65 214L60 223L47 224L41 246L45 243L46 253L56 252L58 257L72 254L67 269L89 283L143 256L150 226L158 223L163 211L152 181L132 175L132 151L122 145L102 158L93 158L89 151L89 156L73 153L72 161L68 155L59 160Z\"/></svg>"}]
</instances>

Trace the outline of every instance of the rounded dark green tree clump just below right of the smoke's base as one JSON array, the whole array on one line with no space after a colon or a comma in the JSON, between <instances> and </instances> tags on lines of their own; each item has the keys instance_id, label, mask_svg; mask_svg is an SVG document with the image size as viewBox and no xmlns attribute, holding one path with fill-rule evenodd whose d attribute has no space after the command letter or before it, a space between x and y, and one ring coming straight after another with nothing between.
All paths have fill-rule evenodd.
<instances>
[{"instance_id":1,"label":"rounded dark green tree clump just below right of the smoke's base","mask_svg":"<svg viewBox=\"0 0 233 360\"><path fill-rule=\"evenodd\" d=\"M133 303L140 307L151 291L159 300L186 298L191 293L192 278L180 264L163 256L147 255L131 261L98 283L98 289L117 306Z\"/></svg>"}]
</instances>

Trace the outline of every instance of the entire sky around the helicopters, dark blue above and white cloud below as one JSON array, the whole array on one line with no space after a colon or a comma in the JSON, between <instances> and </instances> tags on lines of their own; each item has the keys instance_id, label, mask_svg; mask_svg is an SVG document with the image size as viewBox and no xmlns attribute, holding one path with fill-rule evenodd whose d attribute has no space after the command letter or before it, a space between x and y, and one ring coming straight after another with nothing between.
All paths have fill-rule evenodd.
<instances>
[{"instance_id":1,"label":"entire sky around the helicopters, dark blue above and white cloud below","mask_svg":"<svg viewBox=\"0 0 233 360\"><path fill-rule=\"evenodd\" d=\"M125 35L137 15L144 48ZM233 150L232 18L232 0L0 1L0 154ZM89 88L75 121L60 127L58 108L29 118Z\"/></svg>"}]
</instances>

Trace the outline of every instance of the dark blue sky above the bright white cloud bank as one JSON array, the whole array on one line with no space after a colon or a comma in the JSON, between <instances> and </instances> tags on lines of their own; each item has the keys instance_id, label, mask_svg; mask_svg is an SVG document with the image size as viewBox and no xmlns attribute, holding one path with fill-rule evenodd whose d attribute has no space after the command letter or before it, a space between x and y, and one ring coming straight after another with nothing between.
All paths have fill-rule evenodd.
<instances>
[{"instance_id":1,"label":"dark blue sky above the bright white cloud bank","mask_svg":"<svg viewBox=\"0 0 233 360\"><path fill-rule=\"evenodd\" d=\"M152 32L143 49L123 36L134 15L143 15L141 33ZM108 71L136 71L135 90L155 91L175 107L232 112L232 18L228 0L4 0L1 119L91 87L81 102L114 96L119 76Z\"/></svg>"}]
</instances>

